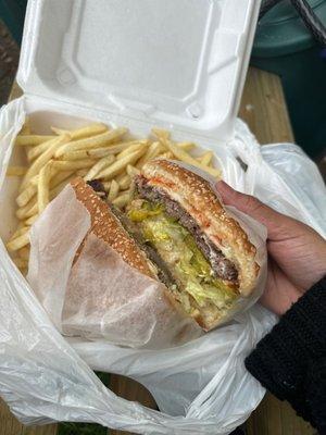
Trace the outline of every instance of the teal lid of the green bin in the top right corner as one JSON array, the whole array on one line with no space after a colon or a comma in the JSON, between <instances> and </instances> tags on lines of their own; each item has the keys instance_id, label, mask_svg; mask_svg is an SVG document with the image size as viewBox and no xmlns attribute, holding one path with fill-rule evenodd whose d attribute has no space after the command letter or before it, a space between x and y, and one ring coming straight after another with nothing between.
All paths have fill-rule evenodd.
<instances>
[{"instance_id":1,"label":"teal lid of the green bin in the top right corner","mask_svg":"<svg viewBox=\"0 0 326 435\"><path fill-rule=\"evenodd\" d=\"M326 26L326 0L308 0ZM281 1L260 21L252 55L274 58L306 50L315 45L311 32L289 0Z\"/></svg>"}]
</instances>

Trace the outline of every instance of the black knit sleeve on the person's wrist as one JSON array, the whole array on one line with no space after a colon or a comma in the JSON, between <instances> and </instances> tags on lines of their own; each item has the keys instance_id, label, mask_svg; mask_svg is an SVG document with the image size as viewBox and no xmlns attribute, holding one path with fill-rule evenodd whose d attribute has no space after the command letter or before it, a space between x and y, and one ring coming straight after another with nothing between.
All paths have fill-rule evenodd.
<instances>
[{"instance_id":1,"label":"black knit sleeve on the person's wrist","mask_svg":"<svg viewBox=\"0 0 326 435\"><path fill-rule=\"evenodd\" d=\"M246 359L246 366L326 434L326 277L284 314Z\"/></svg>"}]
</instances>

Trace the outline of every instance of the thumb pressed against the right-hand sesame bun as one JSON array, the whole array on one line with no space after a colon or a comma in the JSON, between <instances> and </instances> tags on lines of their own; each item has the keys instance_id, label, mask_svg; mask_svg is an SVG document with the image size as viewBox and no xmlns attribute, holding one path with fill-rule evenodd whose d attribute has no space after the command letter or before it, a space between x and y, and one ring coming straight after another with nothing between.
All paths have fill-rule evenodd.
<instances>
[{"instance_id":1,"label":"thumb pressed against the right-hand sesame bun","mask_svg":"<svg viewBox=\"0 0 326 435\"><path fill-rule=\"evenodd\" d=\"M284 236L288 235L289 228L293 227L296 223L291 217L278 213L259 199L233 189L225 182L218 182L216 187L225 204L236 207L265 225L269 240L284 238Z\"/></svg>"}]
</instances>

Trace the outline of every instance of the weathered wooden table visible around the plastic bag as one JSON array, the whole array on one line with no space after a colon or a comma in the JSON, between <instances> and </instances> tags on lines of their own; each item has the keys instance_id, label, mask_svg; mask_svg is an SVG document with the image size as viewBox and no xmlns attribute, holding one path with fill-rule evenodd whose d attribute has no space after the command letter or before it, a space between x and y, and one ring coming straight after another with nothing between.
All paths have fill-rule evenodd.
<instances>
[{"instance_id":1,"label":"weathered wooden table visible around the plastic bag","mask_svg":"<svg viewBox=\"0 0 326 435\"><path fill-rule=\"evenodd\" d=\"M14 86L11 98L21 90ZM277 76L250 69L243 91L240 116L249 124L258 140L263 145L276 141L293 141L289 116ZM111 376L110 388L129 400L155 407L149 393L134 381L122 376ZM0 399L1 400L1 399ZM262 403L247 422L248 435L313 435L314 431L303 420L296 417L292 409L267 394ZM57 425L24 427L0 402L0 435L54 435ZM109 431L110 435L123 434ZM124 432L127 435L127 433Z\"/></svg>"}]
</instances>

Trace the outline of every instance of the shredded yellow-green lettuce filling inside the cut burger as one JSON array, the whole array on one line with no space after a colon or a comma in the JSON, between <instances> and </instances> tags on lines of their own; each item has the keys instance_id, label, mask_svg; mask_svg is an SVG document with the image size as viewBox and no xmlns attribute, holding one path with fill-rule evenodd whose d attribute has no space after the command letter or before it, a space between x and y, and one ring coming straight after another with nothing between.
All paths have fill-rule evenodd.
<instances>
[{"instance_id":1,"label":"shredded yellow-green lettuce filling inside the cut burger","mask_svg":"<svg viewBox=\"0 0 326 435\"><path fill-rule=\"evenodd\" d=\"M168 216L162 204L143 201L130 209L128 216L138 223L146 241L151 244L170 266L181 287L200 307L213 303L228 307L235 291L214 276L211 264L198 248L192 235L176 219Z\"/></svg>"}]
</instances>

